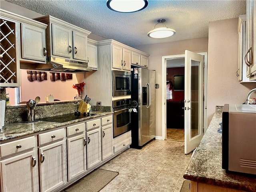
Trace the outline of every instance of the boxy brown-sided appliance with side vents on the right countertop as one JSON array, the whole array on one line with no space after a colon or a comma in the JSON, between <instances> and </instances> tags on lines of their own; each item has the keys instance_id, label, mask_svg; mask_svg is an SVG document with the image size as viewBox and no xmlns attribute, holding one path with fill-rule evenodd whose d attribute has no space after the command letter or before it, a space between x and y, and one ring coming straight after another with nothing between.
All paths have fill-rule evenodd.
<instances>
[{"instance_id":1,"label":"boxy brown-sided appliance with side vents on the right countertop","mask_svg":"<svg viewBox=\"0 0 256 192\"><path fill-rule=\"evenodd\" d=\"M224 105L222 168L256 175L256 105Z\"/></svg>"}]
</instances>

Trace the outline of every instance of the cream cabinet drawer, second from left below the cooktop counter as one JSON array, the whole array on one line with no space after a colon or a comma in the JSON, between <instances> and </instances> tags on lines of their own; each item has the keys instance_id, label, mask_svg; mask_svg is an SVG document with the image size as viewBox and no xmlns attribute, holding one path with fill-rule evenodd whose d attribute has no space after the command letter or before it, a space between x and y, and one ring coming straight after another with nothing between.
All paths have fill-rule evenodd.
<instances>
[{"instance_id":1,"label":"cream cabinet drawer, second from left below the cooktop counter","mask_svg":"<svg viewBox=\"0 0 256 192\"><path fill-rule=\"evenodd\" d=\"M63 129L58 129L55 131L50 131L47 133L42 133L38 135L39 145L49 143L58 139L62 139L65 136L65 131Z\"/></svg>"}]
</instances>

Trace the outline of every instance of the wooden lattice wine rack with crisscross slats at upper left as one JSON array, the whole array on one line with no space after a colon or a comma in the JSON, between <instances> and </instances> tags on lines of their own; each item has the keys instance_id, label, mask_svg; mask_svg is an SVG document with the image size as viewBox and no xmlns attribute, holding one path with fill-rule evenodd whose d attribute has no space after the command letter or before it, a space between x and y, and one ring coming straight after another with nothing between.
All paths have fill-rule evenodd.
<instances>
[{"instance_id":1,"label":"wooden lattice wine rack with crisscross slats at upper left","mask_svg":"<svg viewBox=\"0 0 256 192\"><path fill-rule=\"evenodd\" d=\"M0 18L0 85L19 86L20 63L17 61L17 23Z\"/></svg>"}]
</instances>

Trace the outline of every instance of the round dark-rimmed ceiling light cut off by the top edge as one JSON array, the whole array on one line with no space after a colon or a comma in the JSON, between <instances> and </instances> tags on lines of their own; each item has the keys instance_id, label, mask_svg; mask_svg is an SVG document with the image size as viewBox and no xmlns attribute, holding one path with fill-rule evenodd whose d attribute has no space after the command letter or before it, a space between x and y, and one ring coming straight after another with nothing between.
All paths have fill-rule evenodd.
<instances>
[{"instance_id":1,"label":"round dark-rimmed ceiling light cut off by the top edge","mask_svg":"<svg viewBox=\"0 0 256 192\"><path fill-rule=\"evenodd\" d=\"M148 6L148 0L107 0L107 6L112 11L132 13Z\"/></svg>"}]
</instances>

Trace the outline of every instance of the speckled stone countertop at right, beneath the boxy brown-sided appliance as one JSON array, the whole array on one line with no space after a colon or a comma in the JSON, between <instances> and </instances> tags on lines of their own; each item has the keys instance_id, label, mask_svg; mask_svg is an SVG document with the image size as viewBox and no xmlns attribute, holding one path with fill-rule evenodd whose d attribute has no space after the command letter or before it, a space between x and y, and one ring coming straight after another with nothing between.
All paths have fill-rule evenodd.
<instances>
[{"instance_id":1,"label":"speckled stone countertop at right, beneath the boxy brown-sided appliance","mask_svg":"<svg viewBox=\"0 0 256 192\"><path fill-rule=\"evenodd\" d=\"M256 192L256 176L222 169L222 135L217 132L220 122L222 112L216 112L183 177L210 185Z\"/></svg>"}]
</instances>

